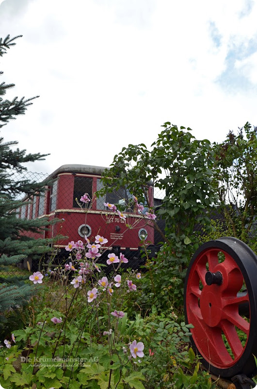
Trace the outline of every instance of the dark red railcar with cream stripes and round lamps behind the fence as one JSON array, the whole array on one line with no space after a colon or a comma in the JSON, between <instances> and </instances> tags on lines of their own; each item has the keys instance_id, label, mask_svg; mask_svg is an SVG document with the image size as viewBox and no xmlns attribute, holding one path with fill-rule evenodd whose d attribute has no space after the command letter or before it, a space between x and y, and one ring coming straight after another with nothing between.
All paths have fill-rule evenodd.
<instances>
[{"instance_id":1,"label":"dark red railcar with cream stripes and round lamps behind the fence","mask_svg":"<svg viewBox=\"0 0 257 389\"><path fill-rule=\"evenodd\" d=\"M65 254L68 242L83 241L85 238L93 242L97 234L108 239L108 247L122 251L134 259L140 257L139 247L142 245L142 239L148 244L154 243L154 229L149 220L146 223L143 214L136 214L132 210L124 211L127 215L125 221L104 206L104 203L121 206L127 204L131 195L126 189L114 190L104 197L95 197L95 192L102 188L100 178L104 170L105 168L100 166L63 165L48 177L53 179L48 191L44 195L34 196L31 206L21 207L20 217L47 216L49 220L61 219L60 223L53 224L44 235L45 238L54 238L60 234L66 236L53 245L59 256ZM149 185L147 190L148 198L153 203L153 187ZM92 199L87 212L81 209L77 202L80 202L80 197L85 193ZM145 211L146 208L143 212ZM126 224L135 227L130 229ZM39 236L42 237L35 235Z\"/></svg>"}]
</instances>

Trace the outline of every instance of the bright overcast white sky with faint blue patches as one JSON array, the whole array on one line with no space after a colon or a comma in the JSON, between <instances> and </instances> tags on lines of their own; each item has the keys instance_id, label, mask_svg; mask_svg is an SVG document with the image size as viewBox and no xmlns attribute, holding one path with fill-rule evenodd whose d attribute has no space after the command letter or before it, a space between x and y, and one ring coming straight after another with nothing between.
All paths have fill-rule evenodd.
<instances>
[{"instance_id":1,"label":"bright overcast white sky with faint blue patches","mask_svg":"<svg viewBox=\"0 0 257 389\"><path fill-rule=\"evenodd\" d=\"M0 36L23 35L0 58L7 98L40 95L1 130L31 170L109 166L161 124L222 141L257 125L257 1L0 0Z\"/></svg>"}]
</instances>

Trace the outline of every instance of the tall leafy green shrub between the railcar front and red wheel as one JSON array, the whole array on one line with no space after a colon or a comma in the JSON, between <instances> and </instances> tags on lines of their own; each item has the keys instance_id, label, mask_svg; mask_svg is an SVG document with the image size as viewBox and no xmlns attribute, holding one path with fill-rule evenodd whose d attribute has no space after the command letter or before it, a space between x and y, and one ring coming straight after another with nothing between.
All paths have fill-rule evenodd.
<instances>
[{"instance_id":1,"label":"tall leafy green shrub between the railcar front and red wheel","mask_svg":"<svg viewBox=\"0 0 257 389\"><path fill-rule=\"evenodd\" d=\"M124 147L103 178L105 188L126 186L143 204L151 203L145 191L149 182L164 192L162 204L155 210L165 220L164 245L155 261L146 261L149 272L139 301L145 310L152 303L160 309L167 309L170 302L182 305L182 280L199 245L195 226L211 230L208 210L218 200L210 142L196 140L190 128L177 128L169 122L162 127L151 150L145 144Z\"/></svg>"}]
</instances>

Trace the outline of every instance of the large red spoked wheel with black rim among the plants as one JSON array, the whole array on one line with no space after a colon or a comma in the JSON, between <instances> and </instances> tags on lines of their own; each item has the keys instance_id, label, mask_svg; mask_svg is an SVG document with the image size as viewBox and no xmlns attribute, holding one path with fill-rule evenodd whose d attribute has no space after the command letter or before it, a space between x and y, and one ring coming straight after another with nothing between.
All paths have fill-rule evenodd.
<instances>
[{"instance_id":1,"label":"large red spoked wheel with black rim among the plants","mask_svg":"<svg viewBox=\"0 0 257 389\"><path fill-rule=\"evenodd\" d=\"M212 373L257 372L257 256L243 242L220 238L201 246L189 264L184 289L192 344Z\"/></svg>"}]
</instances>

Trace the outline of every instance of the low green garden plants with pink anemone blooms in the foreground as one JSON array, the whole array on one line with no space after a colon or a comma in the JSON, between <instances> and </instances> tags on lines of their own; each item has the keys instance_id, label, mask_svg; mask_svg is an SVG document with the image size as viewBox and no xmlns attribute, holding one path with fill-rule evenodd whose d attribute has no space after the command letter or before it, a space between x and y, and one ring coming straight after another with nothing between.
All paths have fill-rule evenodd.
<instances>
[{"instance_id":1,"label":"low green garden plants with pink anemone blooms in the foreground","mask_svg":"<svg viewBox=\"0 0 257 389\"><path fill-rule=\"evenodd\" d=\"M88 194L80 198L85 213L92 205ZM137 198L134 212L140 213ZM79 203L79 202L78 202ZM126 219L114 204L105 204ZM130 208L132 208L130 204ZM154 219L148 209L145 222ZM110 218L111 216L106 216ZM128 223L128 221L127 221ZM130 226L134 228L135 226ZM153 306L145 318L127 312L127 300L136 301L143 281L140 272L122 271L128 259L113 252L101 273L98 260L108 241L96 235L94 243L71 241L68 262L53 271L30 275L36 295L30 310L23 310L25 327L4 339L0 351L1 385L8 388L192 388L211 387L209 376L199 374L199 361L187 350L190 324L175 312L158 315ZM129 295L129 298L127 297ZM192 370L193 375L184 373ZM181 381L182 380L182 381ZM170 382L173 381L172 386Z\"/></svg>"}]
</instances>

